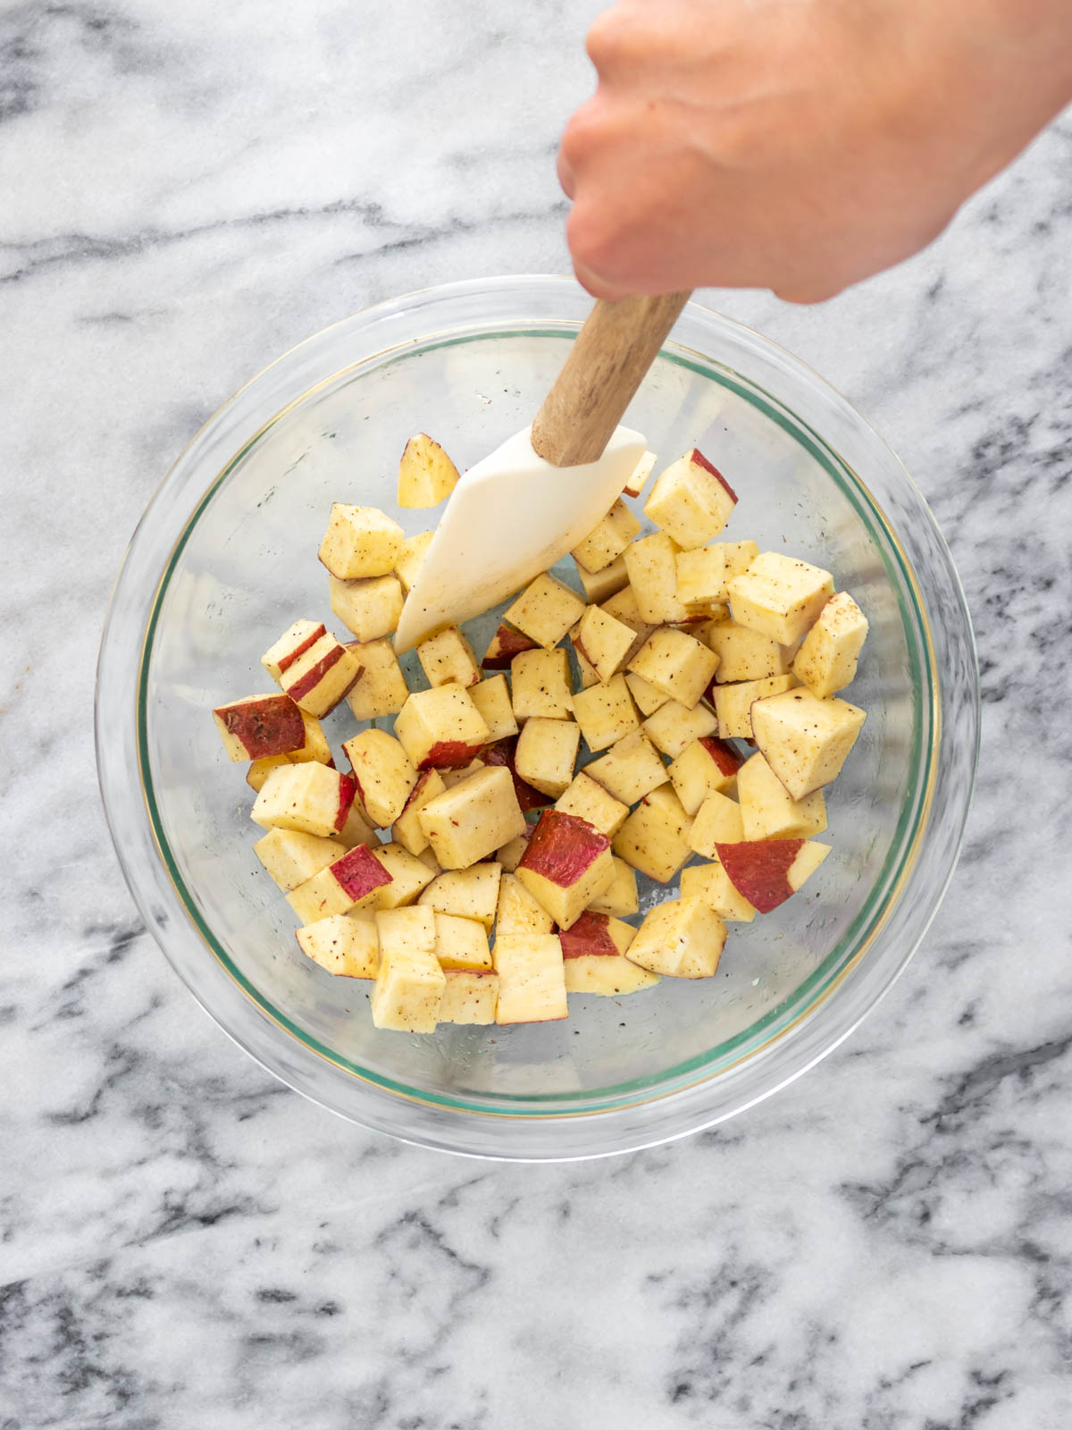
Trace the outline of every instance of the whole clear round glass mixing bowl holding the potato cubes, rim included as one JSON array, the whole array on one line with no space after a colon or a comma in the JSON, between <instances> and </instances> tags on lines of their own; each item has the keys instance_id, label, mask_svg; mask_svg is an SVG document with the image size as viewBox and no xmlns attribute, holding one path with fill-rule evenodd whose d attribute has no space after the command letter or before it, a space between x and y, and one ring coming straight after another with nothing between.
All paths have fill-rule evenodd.
<instances>
[{"instance_id":1,"label":"whole clear round glass mixing bowl holding the potato cubes, rim included","mask_svg":"<svg viewBox=\"0 0 1072 1430\"><path fill-rule=\"evenodd\" d=\"M976 762L963 595L922 496L813 372L690 305L626 422L662 459L696 445L740 496L728 536L835 573L870 621L863 734L829 797L808 888L732 924L715 978L570 995L565 1022L380 1032L367 984L304 958L253 855L244 765L209 711L270 689L260 654L327 618L333 499L394 512L426 430L472 465L536 412L589 309L556 277L382 303L280 358L197 433L149 505L109 613L97 689L107 818L130 889L202 1005L266 1068L384 1133L512 1158L592 1157L709 1127L829 1052L890 987L946 888ZM565 579L575 579L572 562ZM483 633L483 632L480 632ZM353 734L346 705L326 722ZM666 897L649 885L645 904ZM669 891L672 894L672 891Z\"/></svg>"}]
</instances>

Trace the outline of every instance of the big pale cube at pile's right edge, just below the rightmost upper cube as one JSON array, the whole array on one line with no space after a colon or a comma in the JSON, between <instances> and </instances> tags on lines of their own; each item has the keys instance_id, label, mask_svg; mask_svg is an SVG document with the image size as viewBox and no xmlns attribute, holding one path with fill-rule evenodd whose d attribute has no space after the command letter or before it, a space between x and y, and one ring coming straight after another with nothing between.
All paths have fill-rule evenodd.
<instances>
[{"instance_id":1,"label":"big pale cube at pile's right edge, just below the rightmost upper cube","mask_svg":"<svg viewBox=\"0 0 1072 1430\"><path fill-rule=\"evenodd\" d=\"M800 686L756 701L752 734L792 798L803 799L838 778L865 719L858 705Z\"/></svg>"}]
</instances>

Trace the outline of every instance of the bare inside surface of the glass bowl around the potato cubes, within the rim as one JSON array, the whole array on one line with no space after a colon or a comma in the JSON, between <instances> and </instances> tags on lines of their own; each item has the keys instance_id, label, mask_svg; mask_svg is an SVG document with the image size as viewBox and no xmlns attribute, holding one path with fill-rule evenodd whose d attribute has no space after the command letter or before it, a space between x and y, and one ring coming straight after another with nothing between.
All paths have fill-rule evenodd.
<instances>
[{"instance_id":1,"label":"bare inside surface of the glass bowl around the potato cubes, within the rim","mask_svg":"<svg viewBox=\"0 0 1072 1430\"><path fill-rule=\"evenodd\" d=\"M702 448L740 498L726 538L750 536L760 549L828 568L870 621L848 692L868 722L828 801L832 855L805 895L752 925L729 925L715 978L663 980L620 1001L570 995L570 1018L559 1024L379 1032L369 985L334 980L299 952L290 909L253 855L260 831L249 819L244 766L226 761L209 711L272 688L259 656L297 616L343 633L316 559L330 502L382 506L410 535L427 529L435 512L394 511L406 438L430 432L459 466L472 465L530 420L573 332L500 322L432 335L334 372L259 432L242 433L223 470L206 472L214 479L167 563L143 652L149 814L210 954L267 1017L340 1068L456 1108L620 1105L753 1055L818 1007L866 948L925 807L933 738L926 626L882 513L769 392L670 345L629 425L660 459ZM576 585L572 561L557 575ZM495 613L475 623L477 651L493 626ZM413 656L407 668L423 685ZM336 751L357 728L346 705L324 725ZM667 895L642 881L642 912Z\"/></svg>"}]
</instances>

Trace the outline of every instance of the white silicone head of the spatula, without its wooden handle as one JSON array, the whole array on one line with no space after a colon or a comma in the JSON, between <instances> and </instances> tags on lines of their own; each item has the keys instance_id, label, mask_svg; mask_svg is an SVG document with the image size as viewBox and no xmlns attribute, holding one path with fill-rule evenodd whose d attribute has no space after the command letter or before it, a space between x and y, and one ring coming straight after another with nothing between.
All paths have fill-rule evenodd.
<instances>
[{"instance_id":1,"label":"white silicone head of the spatula, without its wooden handle","mask_svg":"<svg viewBox=\"0 0 1072 1430\"><path fill-rule=\"evenodd\" d=\"M553 566L613 506L646 450L639 432L616 428L597 462L552 466L533 452L529 432L472 466L450 493L402 608L399 654Z\"/></svg>"}]
</instances>

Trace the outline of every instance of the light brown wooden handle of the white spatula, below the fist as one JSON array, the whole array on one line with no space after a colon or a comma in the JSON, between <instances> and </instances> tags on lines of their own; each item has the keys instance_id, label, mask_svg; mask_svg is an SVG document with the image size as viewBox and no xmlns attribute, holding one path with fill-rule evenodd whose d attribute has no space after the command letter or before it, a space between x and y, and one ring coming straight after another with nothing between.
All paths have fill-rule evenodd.
<instances>
[{"instance_id":1,"label":"light brown wooden handle of the white spatula, below the fist","mask_svg":"<svg viewBox=\"0 0 1072 1430\"><path fill-rule=\"evenodd\" d=\"M603 455L688 302L688 293L597 299L532 425L539 456L553 466L580 466Z\"/></svg>"}]
</instances>

